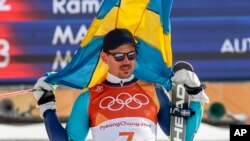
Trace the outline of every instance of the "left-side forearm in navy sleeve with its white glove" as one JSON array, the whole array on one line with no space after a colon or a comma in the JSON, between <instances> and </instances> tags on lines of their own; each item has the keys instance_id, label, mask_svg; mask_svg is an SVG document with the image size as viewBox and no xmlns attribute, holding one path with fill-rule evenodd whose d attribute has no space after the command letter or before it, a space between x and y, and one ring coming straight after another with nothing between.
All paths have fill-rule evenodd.
<instances>
[{"instance_id":1,"label":"left-side forearm in navy sleeve with its white glove","mask_svg":"<svg viewBox=\"0 0 250 141\"><path fill-rule=\"evenodd\" d=\"M38 79L33 92L40 109L40 116L44 119L46 131L51 141L67 141L67 132L62 127L55 112L55 89L51 84L46 83L45 79L46 76Z\"/></svg>"}]
</instances>

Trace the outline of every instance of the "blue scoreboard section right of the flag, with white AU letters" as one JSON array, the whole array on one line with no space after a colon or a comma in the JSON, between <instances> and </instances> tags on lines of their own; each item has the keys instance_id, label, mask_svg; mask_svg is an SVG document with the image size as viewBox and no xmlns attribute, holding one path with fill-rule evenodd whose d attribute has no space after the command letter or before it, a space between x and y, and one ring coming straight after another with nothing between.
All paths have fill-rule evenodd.
<instances>
[{"instance_id":1,"label":"blue scoreboard section right of the flag, with white AU letters","mask_svg":"<svg viewBox=\"0 0 250 141\"><path fill-rule=\"evenodd\" d=\"M191 62L203 81L249 80L249 7L248 0L175 1L174 60Z\"/></svg>"}]
</instances>

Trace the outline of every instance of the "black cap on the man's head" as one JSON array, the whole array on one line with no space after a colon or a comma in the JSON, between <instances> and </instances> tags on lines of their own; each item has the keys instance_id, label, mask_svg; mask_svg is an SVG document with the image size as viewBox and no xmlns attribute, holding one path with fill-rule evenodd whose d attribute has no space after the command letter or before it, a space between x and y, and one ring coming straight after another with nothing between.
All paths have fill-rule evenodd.
<instances>
[{"instance_id":1,"label":"black cap on the man's head","mask_svg":"<svg viewBox=\"0 0 250 141\"><path fill-rule=\"evenodd\" d=\"M131 44L135 48L137 47L135 38L128 29L115 28L104 36L102 49L104 52L108 52L123 44Z\"/></svg>"}]
</instances>

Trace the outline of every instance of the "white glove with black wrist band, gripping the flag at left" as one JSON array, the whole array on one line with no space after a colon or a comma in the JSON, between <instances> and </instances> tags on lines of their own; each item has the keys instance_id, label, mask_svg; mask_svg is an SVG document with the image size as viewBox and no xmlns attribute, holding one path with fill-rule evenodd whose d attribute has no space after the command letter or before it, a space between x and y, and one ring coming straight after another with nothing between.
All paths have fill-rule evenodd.
<instances>
[{"instance_id":1,"label":"white glove with black wrist band, gripping the flag at left","mask_svg":"<svg viewBox=\"0 0 250 141\"><path fill-rule=\"evenodd\" d=\"M33 89L33 95L38 102L40 107L40 116L43 119L43 113L48 110L54 110L55 107L55 88L51 84L46 83L44 80L45 76L38 79Z\"/></svg>"}]
</instances>

